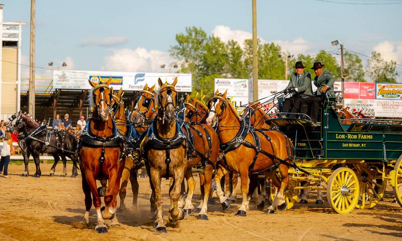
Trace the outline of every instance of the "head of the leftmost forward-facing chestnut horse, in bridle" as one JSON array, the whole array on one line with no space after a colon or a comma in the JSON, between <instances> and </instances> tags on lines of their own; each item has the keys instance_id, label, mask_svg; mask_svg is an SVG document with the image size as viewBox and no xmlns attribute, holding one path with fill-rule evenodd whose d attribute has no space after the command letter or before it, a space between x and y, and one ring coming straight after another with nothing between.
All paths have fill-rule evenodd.
<instances>
[{"instance_id":1,"label":"head of the leftmost forward-facing chestnut horse, in bridle","mask_svg":"<svg viewBox=\"0 0 402 241\"><path fill-rule=\"evenodd\" d=\"M105 84L89 81L89 84L94 88L92 93L94 112L102 121L109 120L113 94L113 88L109 87L111 82L112 78L109 78Z\"/></svg>"}]
</instances>

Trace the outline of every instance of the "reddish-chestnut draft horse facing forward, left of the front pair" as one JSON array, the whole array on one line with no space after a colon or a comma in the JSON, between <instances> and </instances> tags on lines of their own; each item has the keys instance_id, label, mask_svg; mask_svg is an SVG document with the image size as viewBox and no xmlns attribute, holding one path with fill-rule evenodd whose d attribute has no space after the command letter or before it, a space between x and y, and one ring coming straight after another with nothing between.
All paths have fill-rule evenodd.
<instances>
[{"instance_id":1,"label":"reddish-chestnut draft horse facing forward, left of the front pair","mask_svg":"<svg viewBox=\"0 0 402 241\"><path fill-rule=\"evenodd\" d=\"M95 230L99 233L108 231L104 218L112 219L112 225L119 224L116 205L124 167L124 159L120 158L123 139L110 113L113 94L113 89L109 87L111 82L112 78L105 84L89 81L94 88L92 93L94 108L79 144L82 190L85 195L84 218L88 224L92 194L93 206L97 214ZM108 189L104 198L105 207L100 208L101 200L96 180L103 179L108 180Z\"/></svg>"}]
</instances>

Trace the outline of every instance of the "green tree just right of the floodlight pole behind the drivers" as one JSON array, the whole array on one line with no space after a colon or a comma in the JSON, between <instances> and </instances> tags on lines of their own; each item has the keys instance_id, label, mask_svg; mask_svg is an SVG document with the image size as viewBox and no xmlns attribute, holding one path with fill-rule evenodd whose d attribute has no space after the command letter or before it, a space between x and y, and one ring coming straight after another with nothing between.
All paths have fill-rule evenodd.
<instances>
[{"instance_id":1,"label":"green tree just right of the floodlight pole behind the drivers","mask_svg":"<svg viewBox=\"0 0 402 241\"><path fill-rule=\"evenodd\" d=\"M344 55L344 74L347 79L353 82L366 82L361 58L352 52L345 51Z\"/></svg>"}]
</instances>

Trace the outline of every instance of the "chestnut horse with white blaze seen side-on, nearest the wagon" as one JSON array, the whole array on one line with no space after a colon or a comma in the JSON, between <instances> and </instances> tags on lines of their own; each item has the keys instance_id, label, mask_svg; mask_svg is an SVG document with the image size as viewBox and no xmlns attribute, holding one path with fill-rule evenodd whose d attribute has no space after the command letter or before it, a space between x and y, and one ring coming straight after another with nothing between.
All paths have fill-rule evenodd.
<instances>
[{"instance_id":1,"label":"chestnut horse with white blaze seen side-on, nearest the wagon","mask_svg":"<svg viewBox=\"0 0 402 241\"><path fill-rule=\"evenodd\" d=\"M293 158L290 140L283 135L283 138L273 139L274 136L267 134L267 131L254 129L250 125L250 113L240 118L231 104L226 99L226 93L215 96L209 102L209 116L207 123L212 126L218 125L218 133L221 140L223 154L220 156L220 165L215 181L219 182L222 175L227 172L240 174L241 191L243 194L242 205L236 215L246 216L249 209L249 200L257 187L257 182L250 182L248 176L254 174L272 175L277 168L281 176L281 186L268 207L267 213L273 213L275 209L285 210L286 201L283 193L289 181L288 169ZM283 148L284 147L284 148ZM227 201L223 192L217 185L218 196L221 203ZM256 200L256 204L258 204Z\"/></svg>"}]
</instances>

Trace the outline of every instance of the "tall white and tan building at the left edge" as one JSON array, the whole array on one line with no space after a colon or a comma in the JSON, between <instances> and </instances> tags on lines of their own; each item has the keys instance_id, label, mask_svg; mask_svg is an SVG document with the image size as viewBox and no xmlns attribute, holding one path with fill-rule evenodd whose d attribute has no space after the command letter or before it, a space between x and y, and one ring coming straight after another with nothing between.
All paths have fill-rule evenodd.
<instances>
[{"instance_id":1,"label":"tall white and tan building at the left edge","mask_svg":"<svg viewBox=\"0 0 402 241\"><path fill-rule=\"evenodd\" d=\"M3 22L0 5L0 118L7 119L20 110L21 103L21 37L23 22Z\"/></svg>"}]
</instances>

